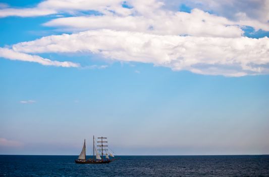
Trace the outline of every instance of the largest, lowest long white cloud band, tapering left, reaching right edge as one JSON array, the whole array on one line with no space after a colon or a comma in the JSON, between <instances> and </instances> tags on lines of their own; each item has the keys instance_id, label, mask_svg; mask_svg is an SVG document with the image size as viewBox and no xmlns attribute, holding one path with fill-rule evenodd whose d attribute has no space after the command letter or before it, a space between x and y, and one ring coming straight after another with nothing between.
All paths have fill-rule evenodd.
<instances>
[{"instance_id":1,"label":"largest, lowest long white cloud band, tapering left, reaching right edge","mask_svg":"<svg viewBox=\"0 0 269 177\"><path fill-rule=\"evenodd\" d=\"M23 53L93 53L116 61L153 63L199 74L267 74L267 37L195 37L94 30L51 35L13 45Z\"/></svg>"}]
</instances>

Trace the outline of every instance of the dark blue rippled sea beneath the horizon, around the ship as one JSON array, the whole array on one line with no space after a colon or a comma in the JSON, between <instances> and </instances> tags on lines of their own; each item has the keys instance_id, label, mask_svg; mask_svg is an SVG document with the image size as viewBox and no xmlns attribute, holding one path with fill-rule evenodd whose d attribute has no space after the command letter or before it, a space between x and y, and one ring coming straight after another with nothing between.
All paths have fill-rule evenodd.
<instances>
[{"instance_id":1,"label":"dark blue rippled sea beneath the horizon, around the ship","mask_svg":"<svg viewBox=\"0 0 269 177\"><path fill-rule=\"evenodd\" d=\"M269 155L117 156L109 164L76 158L0 155L0 176L269 176Z\"/></svg>"}]
</instances>

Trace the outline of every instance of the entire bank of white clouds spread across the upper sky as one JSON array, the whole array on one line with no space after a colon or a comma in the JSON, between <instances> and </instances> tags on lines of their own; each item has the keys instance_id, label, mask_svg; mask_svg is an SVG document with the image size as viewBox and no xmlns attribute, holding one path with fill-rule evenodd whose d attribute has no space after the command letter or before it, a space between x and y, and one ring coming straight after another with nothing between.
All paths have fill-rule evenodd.
<instances>
[{"instance_id":1,"label":"entire bank of white clouds spread across the upper sky","mask_svg":"<svg viewBox=\"0 0 269 177\"><path fill-rule=\"evenodd\" d=\"M194 9L190 13L175 10L182 4ZM47 0L33 8L4 7L0 9L2 18L63 14L43 25L73 34L45 36L17 43L12 49L0 48L0 57L80 67L36 54L91 53L114 61L152 63L198 74L268 74L268 38L244 37L243 30L251 26L256 31L269 31L268 12L269 3L263 0Z\"/></svg>"}]
</instances>

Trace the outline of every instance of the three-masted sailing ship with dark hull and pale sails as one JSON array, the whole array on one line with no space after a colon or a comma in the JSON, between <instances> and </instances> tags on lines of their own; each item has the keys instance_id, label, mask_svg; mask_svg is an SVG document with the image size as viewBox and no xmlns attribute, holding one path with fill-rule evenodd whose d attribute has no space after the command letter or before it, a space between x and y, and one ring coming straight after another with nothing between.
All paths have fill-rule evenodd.
<instances>
[{"instance_id":1,"label":"three-masted sailing ship with dark hull and pale sails","mask_svg":"<svg viewBox=\"0 0 269 177\"><path fill-rule=\"evenodd\" d=\"M97 138L97 143L99 143L99 145L97 144L97 148L95 147L95 139L93 136L93 156L92 159L87 159L86 160L86 144L85 144L85 140L84 140L84 145L82 147L82 151L78 157L78 159L75 160L76 163L91 163L91 164L96 164L96 163L110 163L111 161L115 160L114 159L110 159L109 156L114 157L114 155L108 150L108 146L106 145L107 138L105 137L100 137ZM101 152L101 154L99 154L99 152ZM105 158L103 158L103 155L105 155Z\"/></svg>"}]
</instances>

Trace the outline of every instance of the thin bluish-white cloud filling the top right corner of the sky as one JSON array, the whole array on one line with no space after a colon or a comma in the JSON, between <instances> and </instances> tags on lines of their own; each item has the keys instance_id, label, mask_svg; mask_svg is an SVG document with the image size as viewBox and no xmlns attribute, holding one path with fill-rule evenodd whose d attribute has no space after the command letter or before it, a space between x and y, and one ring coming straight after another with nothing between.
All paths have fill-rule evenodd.
<instances>
[{"instance_id":1,"label":"thin bluish-white cloud filling the top right corner of the sky","mask_svg":"<svg viewBox=\"0 0 269 177\"><path fill-rule=\"evenodd\" d=\"M226 17L239 25L248 25L255 30L269 30L269 1L268 0L165 0L166 8L174 11L185 4L191 8L210 11Z\"/></svg>"}]
</instances>

